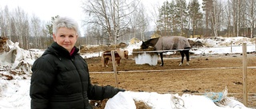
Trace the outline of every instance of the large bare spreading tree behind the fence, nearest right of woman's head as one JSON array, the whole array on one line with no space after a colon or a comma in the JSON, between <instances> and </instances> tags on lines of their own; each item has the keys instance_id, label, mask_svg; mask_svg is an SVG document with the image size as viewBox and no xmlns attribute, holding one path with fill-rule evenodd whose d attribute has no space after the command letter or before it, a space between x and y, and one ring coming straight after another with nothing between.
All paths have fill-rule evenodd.
<instances>
[{"instance_id":1,"label":"large bare spreading tree behind the fence, nearest right of woman's head","mask_svg":"<svg viewBox=\"0 0 256 109\"><path fill-rule=\"evenodd\" d=\"M130 23L129 15L135 9L133 2L126 0L86 0L83 2L83 11L89 14L85 24L101 26L109 37L110 43L117 44L120 31L126 29ZM138 3L137 3L138 4Z\"/></svg>"}]
</instances>

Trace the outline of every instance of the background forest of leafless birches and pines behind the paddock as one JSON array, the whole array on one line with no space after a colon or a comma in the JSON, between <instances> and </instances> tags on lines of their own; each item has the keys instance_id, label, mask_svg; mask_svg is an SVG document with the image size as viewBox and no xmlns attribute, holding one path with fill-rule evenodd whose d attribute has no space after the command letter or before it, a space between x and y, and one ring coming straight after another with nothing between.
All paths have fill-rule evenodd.
<instances>
[{"instance_id":1,"label":"background forest of leafless birches and pines behind the paddock","mask_svg":"<svg viewBox=\"0 0 256 109\"><path fill-rule=\"evenodd\" d=\"M135 37L255 37L254 0L166 0L145 6L141 0L82 0L86 15L77 45L117 45ZM22 49L46 49L52 40L51 21L27 14L22 7L0 7L0 37ZM154 27L150 24L154 23Z\"/></svg>"}]
</instances>

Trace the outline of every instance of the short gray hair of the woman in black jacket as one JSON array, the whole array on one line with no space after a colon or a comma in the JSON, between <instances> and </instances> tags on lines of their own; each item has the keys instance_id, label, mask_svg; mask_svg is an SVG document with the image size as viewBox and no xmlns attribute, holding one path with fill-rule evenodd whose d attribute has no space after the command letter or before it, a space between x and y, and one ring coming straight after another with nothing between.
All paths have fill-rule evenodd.
<instances>
[{"instance_id":1,"label":"short gray hair of the woman in black jacket","mask_svg":"<svg viewBox=\"0 0 256 109\"><path fill-rule=\"evenodd\" d=\"M78 36L80 36L80 31L78 29L78 22L74 21L72 18L59 17L54 20L53 33L56 34L59 28L65 27L67 29L74 29Z\"/></svg>"}]
</instances>

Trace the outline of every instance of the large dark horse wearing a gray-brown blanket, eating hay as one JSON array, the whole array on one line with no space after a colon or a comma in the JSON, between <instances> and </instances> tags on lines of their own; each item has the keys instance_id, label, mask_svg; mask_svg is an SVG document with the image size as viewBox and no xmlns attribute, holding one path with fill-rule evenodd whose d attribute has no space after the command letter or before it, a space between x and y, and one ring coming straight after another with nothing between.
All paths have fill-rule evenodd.
<instances>
[{"instance_id":1,"label":"large dark horse wearing a gray-brown blanket, eating hay","mask_svg":"<svg viewBox=\"0 0 256 109\"><path fill-rule=\"evenodd\" d=\"M157 37L152 38L147 41L142 41L141 49L148 49L149 47L154 47L156 51L161 50L175 50L179 51L182 56L182 61L180 62L179 66L183 64L184 60L184 54L186 55L186 65L189 65L190 61L190 43L186 37L181 36L168 36L168 37ZM166 51L168 52L168 51ZM162 59L162 53L164 52L158 52L161 57L161 66L164 65L163 59Z\"/></svg>"}]
</instances>

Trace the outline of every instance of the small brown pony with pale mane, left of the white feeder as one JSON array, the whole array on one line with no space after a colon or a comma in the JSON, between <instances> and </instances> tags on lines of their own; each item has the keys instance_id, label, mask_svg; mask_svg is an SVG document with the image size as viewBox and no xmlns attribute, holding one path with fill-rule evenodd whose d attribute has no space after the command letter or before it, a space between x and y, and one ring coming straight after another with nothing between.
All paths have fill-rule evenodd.
<instances>
[{"instance_id":1,"label":"small brown pony with pale mane, left of the white feeder","mask_svg":"<svg viewBox=\"0 0 256 109\"><path fill-rule=\"evenodd\" d=\"M128 51L117 49L116 51L114 51L114 57L115 57L116 64L119 66L121 59L128 59ZM112 56L111 56L111 51L107 50L102 53L102 67L108 67L107 64L109 60L112 61Z\"/></svg>"}]
</instances>

